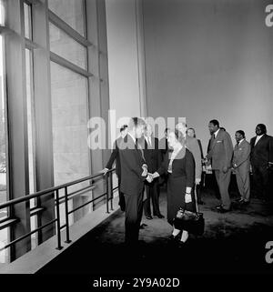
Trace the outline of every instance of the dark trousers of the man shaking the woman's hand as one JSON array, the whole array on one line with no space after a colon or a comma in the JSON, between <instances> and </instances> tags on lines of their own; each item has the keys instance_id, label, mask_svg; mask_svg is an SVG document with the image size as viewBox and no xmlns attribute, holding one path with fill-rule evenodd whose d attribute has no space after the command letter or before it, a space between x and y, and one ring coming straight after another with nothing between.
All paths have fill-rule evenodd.
<instances>
[{"instance_id":1,"label":"dark trousers of the man shaking the woman's hand","mask_svg":"<svg viewBox=\"0 0 273 292\"><path fill-rule=\"evenodd\" d=\"M137 195L124 194L126 200L125 241L127 245L137 244L143 213L143 191Z\"/></svg>"}]
</instances>

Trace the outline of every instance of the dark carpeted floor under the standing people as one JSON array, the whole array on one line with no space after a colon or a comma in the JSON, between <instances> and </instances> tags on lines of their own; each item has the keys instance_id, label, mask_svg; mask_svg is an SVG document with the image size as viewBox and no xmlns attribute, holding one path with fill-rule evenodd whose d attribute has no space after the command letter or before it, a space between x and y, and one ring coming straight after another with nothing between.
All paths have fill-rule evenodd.
<instances>
[{"instance_id":1,"label":"dark carpeted floor under the standing people","mask_svg":"<svg viewBox=\"0 0 273 292\"><path fill-rule=\"evenodd\" d=\"M160 194L160 208L166 216L166 191ZM200 206L206 227L202 237L191 236L187 246L169 243L172 227L166 219L143 222L138 249L124 247L124 213L118 210L98 227L80 238L63 254L37 274L185 274L185 273L272 273L273 264L265 260L268 241L273 241L273 206L258 198L243 209L219 214L213 208L218 201L213 191L204 190Z\"/></svg>"}]
</instances>

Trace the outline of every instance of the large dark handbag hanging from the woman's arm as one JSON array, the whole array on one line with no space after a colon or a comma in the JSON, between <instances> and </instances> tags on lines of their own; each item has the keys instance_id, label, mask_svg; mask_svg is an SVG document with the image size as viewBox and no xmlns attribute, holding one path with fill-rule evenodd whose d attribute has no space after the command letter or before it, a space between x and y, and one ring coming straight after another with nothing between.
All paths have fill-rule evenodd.
<instances>
[{"instance_id":1,"label":"large dark handbag hanging from the woman's arm","mask_svg":"<svg viewBox=\"0 0 273 292\"><path fill-rule=\"evenodd\" d=\"M203 213L199 213L197 205L197 191L195 190L195 201L197 212L187 211L186 208L180 208L174 219L174 226L180 230L187 230L188 233L201 236L205 229L205 220Z\"/></svg>"}]
</instances>

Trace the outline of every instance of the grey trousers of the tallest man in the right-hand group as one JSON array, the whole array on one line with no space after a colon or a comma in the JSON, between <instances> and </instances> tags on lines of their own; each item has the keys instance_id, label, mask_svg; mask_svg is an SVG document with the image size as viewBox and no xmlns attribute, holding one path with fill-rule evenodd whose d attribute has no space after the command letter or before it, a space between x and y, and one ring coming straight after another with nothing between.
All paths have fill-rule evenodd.
<instances>
[{"instance_id":1,"label":"grey trousers of the tallest man in the right-hand group","mask_svg":"<svg viewBox=\"0 0 273 292\"><path fill-rule=\"evenodd\" d=\"M231 170L228 169L227 173L224 173L223 171L219 169L215 169L215 177L217 179L217 185L219 188L222 206L224 209L229 209L231 206L230 197L228 194L228 186L230 183L230 176L231 176Z\"/></svg>"}]
</instances>

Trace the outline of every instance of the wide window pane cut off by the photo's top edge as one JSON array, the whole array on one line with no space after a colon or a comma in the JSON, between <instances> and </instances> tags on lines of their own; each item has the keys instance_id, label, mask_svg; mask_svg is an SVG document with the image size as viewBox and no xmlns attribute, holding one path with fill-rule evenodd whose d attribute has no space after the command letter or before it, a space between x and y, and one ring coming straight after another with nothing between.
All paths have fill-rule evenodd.
<instances>
[{"instance_id":1,"label":"wide window pane cut off by the photo's top edge","mask_svg":"<svg viewBox=\"0 0 273 292\"><path fill-rule=\"evenodd\" d=\"M74 28L85 35L85 1L84 0L48 0L49 9Z\"/></svg>"}]
</instances>

